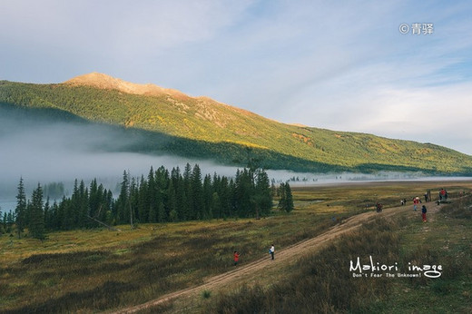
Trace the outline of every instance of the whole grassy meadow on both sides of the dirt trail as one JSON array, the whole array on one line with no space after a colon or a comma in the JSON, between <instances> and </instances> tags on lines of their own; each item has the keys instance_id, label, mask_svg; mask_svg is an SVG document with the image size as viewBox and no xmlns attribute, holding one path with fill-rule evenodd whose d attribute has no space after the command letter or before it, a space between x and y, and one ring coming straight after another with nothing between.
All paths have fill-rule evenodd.
<instances>
[{"instance_id":1,"label":"whole grassy meadow on both sides of the dirt trail","mask_svg":"<svg viewBox=\"0 0 472 314\"><path fill-rule=\"evenodd\" d=\"M0 312L112 311L202 284L233 270L232 251L241 265L267 258L270 243L283 250L329 230L363 211L397 207L400 199L433 199L446 188L450 198L470 193L472 182L376 182L293 187L295 211L274 210L266 219L143 224L131 230L49 233L44 241L0 237ZM178 300L150 312L466 312L471 307L472 234L465 198L429 215L370 221L333 241L317 254L257 284L206 291L192 306ZM397 216L395 216L397 217ZM349 260L382 257L407 265L418 260L442 264L440 279L353 279ZM276 278L278 280L273 280ZM182 308L183 304L183 308Z\"/></svg>"}]
</instances>

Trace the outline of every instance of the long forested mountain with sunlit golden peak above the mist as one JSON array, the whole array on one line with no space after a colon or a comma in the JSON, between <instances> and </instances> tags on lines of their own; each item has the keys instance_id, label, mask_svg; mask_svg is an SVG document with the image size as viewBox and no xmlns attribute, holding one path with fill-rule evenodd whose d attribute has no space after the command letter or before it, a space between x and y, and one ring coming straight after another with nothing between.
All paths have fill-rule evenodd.
<instances>
[{"instance_id":1,"label":"long forested mountain with sunlit golden peak above the mist","mask_svg":"<svg viewBox=\"0 0 472 314\"><path fill-rule=\"evenodd\" d=\"M435 144L278 123L208 97L106 74L51 84L0 81L0 104L113 128L133 139L122 150L241 165L251 157L267 168L304 172L472 173L472 156Z\"/></svg>"}]
</instances>

